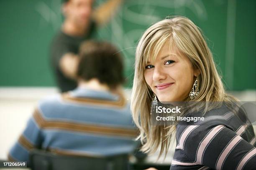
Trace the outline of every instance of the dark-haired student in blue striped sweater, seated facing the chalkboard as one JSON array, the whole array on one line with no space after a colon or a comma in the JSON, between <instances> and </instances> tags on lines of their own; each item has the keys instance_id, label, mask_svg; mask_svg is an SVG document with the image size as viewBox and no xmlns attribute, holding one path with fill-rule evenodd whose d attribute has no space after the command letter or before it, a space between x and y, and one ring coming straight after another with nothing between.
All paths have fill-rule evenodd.
<instances>
[{"instance_id":1,"label":"dark-haired student in blue striped sweater, seated facing the chalkboard","mask_svg":"<svg viewBox=\"0 0 256 170\"><path fill-rule=\"evenodd\" d=\"M33 148L98 156L131 153L137 147L137 130L120 88L120 53L108 42L88 41L79 57L77 89L39 103L9 160L28 161Z\"/></svg>"}]
</instances>

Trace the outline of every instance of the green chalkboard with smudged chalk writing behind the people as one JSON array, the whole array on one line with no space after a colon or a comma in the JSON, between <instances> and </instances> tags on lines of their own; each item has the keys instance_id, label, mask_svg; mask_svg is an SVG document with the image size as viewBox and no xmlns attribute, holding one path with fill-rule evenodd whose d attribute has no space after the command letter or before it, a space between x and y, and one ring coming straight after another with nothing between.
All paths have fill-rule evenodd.
<instances>
[{"instance_id":1,"label":"green chalkboard with smudged chalk writing behind the people","mask_svg":"<svg viewBox=\"0 0 256 170\"><path fill-rule=\"evenodd\" d=\"M0 86L55 86L49 44L63 20L60 8L61 0L0 1ZM229 90L256 89L255 0L124 0L95 38L123 52L127 87L139 38L170 15L186 16L203 30Z\"/></svg>"}]
</instances>

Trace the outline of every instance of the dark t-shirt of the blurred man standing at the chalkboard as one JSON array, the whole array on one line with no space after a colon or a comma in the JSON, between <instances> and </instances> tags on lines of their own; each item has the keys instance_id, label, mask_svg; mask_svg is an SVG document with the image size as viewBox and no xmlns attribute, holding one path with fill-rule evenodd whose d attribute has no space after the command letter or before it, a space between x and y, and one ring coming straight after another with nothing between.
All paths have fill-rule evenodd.
<instances>
[{"instance_id":1,"label":"dark t-shirt of the blurred man standing at the chalkboard","mask_svg":"<svg viewBox=\"0 0 256 170\"><path fill-rule=\"evenodd\" d=\"M59 67L61 57L69 52L78 54L79 45L84 40L92 37L95 27L95 22L91 22L88 33L83 37L67 35L60 30L52 40L50 47L51 66L53 67L55 79L61 92L67 92L77 87L75 80L70 79L61 72Z\"/></svg>"}]
</instances>

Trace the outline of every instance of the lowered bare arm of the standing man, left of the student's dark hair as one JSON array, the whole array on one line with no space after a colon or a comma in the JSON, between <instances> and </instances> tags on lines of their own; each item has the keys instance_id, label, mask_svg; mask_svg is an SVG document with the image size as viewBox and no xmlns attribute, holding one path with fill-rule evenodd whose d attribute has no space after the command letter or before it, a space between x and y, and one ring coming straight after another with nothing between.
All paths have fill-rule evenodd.
<instances>
[{"instance_id":1,"label":"lowered bare arm of the standing man, left of the student's dark hair","mask_svg":"<svg viewBox=\"0 0 256 170\"><path fill-rule=\"evenodd\" d=\"M79 58L73 53L67 53L61 57L59 67L64 75L69 78L77 79L77 67Z\"/></svg>"}]
</instances>

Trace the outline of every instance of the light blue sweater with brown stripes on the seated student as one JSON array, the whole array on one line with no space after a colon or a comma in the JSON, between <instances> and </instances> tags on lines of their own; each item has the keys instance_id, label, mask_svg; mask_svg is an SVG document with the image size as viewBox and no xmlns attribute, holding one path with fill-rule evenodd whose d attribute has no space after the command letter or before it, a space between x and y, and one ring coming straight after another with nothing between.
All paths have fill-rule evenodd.
<instances>
[{"instance_id":1,"label":"light blue sweater with brown stripes on the seated student","mask_svg":"<svg viewBox=\"0 0 256 170\"><path fill-rule=\"evenodd\" d=\"M124 97L77 88L39 103L8 158L28 161L33 148L91 157L131 153L136 135Z\"/></svg>"}]
</instances>

